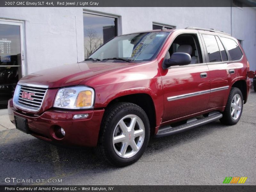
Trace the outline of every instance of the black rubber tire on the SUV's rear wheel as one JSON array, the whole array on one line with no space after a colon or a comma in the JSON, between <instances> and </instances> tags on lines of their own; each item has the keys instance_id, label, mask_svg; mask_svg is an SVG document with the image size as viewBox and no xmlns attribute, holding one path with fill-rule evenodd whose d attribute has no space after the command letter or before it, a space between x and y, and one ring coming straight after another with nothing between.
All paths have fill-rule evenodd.
<instances>
[{"instance_id":1,"label":"black rubber tire on the SUV's rear wheel","mask_svg":"<svg viewBox=\"0 0 256 192\"><path fill-rule=\"evenodd\" d=\"M233 102L233 99L235 97L235 95L238 94L241 98L241 110L240 110L240 114L239 116L234 119L235 117L232 117L231 115L231 104ZM225 107L225 110L222 113L222 118L220 119L220 122L222 124L226 124L226 125L234 125L237 124L238 121L240 120L241 116L242 116L242 112L243 112L243 106L244 106L244 100L243 100L243 94L240 91L240 89L236 88L236 87L232 87L228 96L228 101Z\"/></svg>"}]
</instances>

